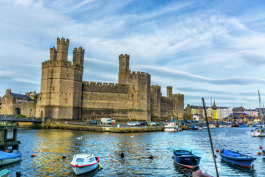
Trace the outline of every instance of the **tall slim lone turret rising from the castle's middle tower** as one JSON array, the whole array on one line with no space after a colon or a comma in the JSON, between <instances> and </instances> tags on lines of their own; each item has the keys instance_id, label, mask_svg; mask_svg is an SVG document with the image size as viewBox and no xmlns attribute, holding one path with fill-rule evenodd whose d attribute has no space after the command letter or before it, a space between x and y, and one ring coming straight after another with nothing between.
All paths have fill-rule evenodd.
<instances>
[{"instance_id":1,"label":"tall slim lone turret rising from the castle's middle tower","mask_svg":"<svg viewBox=\"0 0 265 177\"><path fill-rule=\"evenodd\" d=\"M119 55L119 83L120 84L128 84L127 74L130 73L129 60L130 60L130 55L127 55L127 54Z\"/></svg>"}]
</instances>

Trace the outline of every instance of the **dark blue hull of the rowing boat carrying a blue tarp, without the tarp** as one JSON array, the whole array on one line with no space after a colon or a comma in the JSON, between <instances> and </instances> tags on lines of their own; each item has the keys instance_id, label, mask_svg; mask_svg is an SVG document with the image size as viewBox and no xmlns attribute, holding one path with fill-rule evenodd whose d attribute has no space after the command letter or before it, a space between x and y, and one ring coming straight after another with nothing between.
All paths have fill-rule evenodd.
<instances>
[{"instance_id":1,"label":"dark blue hull of the rowing boat carrying a blue tarp, without the tarp","mask_svg":"<svg viewBox=\"0 0 265 177\"><path fill-rule=\"evenodd\" d=\"M233 153L236 153L236 152L233 152ZM224 155L223 150L220 151L220 156L226 162L233 163L236 165L241 165L244 167L250 167L253 161L256 160L256 158L250 158L250 157L230 157L230 156Z\"/></svg>"}]
</instances>

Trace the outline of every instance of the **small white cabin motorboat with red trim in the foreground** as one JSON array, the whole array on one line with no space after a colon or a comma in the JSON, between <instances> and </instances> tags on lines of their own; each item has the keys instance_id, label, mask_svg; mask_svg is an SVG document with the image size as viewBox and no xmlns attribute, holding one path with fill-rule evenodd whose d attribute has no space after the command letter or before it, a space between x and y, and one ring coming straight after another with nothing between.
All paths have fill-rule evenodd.
<instances>
[{"instance_id":1,"label":"small white cabin motorboat with red trim in the foreground","mask_svg":"<svg viewBox=\"0 0 265 177\"><path fill-rule=\"evenodd\" d=\"M76 175L95 170L99 165L99 157L94 154L76 154L70 163Z\"/></svg>"}]
</instances>

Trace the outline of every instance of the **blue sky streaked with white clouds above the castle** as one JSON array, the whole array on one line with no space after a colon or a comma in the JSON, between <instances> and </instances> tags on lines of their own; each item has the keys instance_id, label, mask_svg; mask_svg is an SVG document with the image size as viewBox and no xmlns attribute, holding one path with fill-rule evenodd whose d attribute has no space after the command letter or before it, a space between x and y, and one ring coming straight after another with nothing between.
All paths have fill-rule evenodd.
<instances>
[{"instance_id":1,"label":"blue sky streaked with white clouds above the castle","mask_svg":"<svg viewBox=\"0 0 265 177\"><path fill-rule=\"evenodd\" d=\"M2 1L0 96L40 92L41 63L58 37L85 49L83 81L118 82L118 55L151 84L210 106L265 99L265 1Z\"/></svg>"}]
</instances>

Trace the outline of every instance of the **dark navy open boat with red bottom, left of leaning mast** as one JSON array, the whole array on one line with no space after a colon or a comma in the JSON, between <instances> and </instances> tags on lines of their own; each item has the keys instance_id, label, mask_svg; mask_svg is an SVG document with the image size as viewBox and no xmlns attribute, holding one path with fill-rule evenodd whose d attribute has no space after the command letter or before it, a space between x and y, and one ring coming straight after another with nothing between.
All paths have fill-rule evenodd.
<instances>
[{"instance_id":1,"label":"dark navy open boat with red bottom, left of leaning mast","mask_svg":"<svg viewBox=\"0 0 265 177\"><path fill-rule=\"evenodd\" d=\"M174 150L173 156L176 164L187 168L197 168L201 161L201 157L188 150Z\"/></svg>"}]
</instances>

